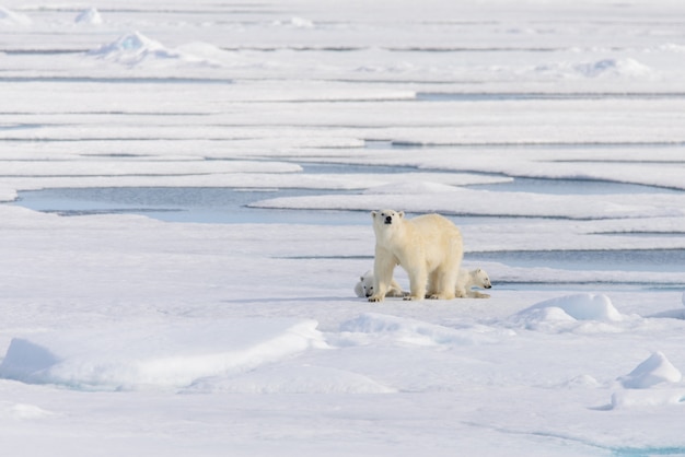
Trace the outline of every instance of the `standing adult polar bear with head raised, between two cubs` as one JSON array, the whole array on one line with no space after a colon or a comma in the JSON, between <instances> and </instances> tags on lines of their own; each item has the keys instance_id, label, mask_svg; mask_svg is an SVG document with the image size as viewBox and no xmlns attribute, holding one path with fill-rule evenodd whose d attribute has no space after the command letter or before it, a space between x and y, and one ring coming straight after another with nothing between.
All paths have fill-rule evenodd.
<instances>
[{"instance_id":1,"label":"standing adult polar bear with head raised, between two cubs","mask_svg":"<svg viewBox=\"0 0 685 457\"><path fill-rule=\"evenodd\" d=\"M462 233L440 214L405 219L404 211L372 211L375 233L373 295L369 302L381 302L393 280L395 266L409 276L411 294L405 300L452 300L465 296L455 291L464 257ZM456 293L455 293L456 292Z\"/></svg>"}]
</instances>

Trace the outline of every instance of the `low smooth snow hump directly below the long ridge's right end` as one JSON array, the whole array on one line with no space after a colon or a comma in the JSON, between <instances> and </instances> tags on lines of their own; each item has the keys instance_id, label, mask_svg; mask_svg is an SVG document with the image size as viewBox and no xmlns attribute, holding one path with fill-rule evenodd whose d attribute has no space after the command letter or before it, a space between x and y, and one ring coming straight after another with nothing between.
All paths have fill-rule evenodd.
<instances>
[{"instance_id":1,"label":"low smooth snow hump directly below the long ridge's right end","mask_svg":"<svg viewBox=\"0 0 685 457\"><path fill-rule=\"evenodd\" d=\"M345 370L299 365L266 367L237 377L199 379L184 392L393 394L395 389Z\"/></svg>"}]
</instances>

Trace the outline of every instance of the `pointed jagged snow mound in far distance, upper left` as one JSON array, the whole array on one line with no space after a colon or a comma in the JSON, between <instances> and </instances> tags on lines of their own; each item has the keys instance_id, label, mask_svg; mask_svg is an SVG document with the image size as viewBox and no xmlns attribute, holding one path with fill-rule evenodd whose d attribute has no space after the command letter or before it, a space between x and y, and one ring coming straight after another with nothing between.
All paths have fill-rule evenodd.
<instances>
[{"instance_id":1,"label":"pointed jagged snow mound in far distance, upper left","mask_svg":"<svg viewBox=\"0 0 685 457\"><path fill-rule=\"evenodd\" d=\"M201 63L217 66L202 57L164 47L161 43L148 38L140 32L124 35L113 43L101 46L89 52L89 56L124 63L130 67L144 62L159 63L164 61Z\"/></svg>"}]
</instances>

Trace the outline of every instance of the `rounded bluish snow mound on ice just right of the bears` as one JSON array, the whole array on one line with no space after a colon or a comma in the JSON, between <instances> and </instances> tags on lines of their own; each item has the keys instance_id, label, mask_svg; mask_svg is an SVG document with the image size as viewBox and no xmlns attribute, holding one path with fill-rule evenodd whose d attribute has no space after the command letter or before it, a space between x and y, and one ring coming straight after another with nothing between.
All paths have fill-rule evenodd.
<instances>
[{"instance_id":1,"label":"rounded bluish snow mound on ice just right of the bears","mask_svg":"<svg viewBox=\"0 0 685 457\"><path fill-rule=\"evenodd\" d=\"M574 321L599 320L616 323L623 316L604 294L573 294L537 303L515 315L515 318L525 323L543 320Z\"/></svg>"}]
</instances>

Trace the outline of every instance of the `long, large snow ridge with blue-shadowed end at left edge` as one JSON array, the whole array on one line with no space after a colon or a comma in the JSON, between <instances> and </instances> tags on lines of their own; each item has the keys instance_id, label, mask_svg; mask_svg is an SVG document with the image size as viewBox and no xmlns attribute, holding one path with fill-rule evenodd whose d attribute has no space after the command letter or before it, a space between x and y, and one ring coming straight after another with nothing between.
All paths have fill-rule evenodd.
<instances>
[{"instance_id":1,"label":"long, large snow ridge with blue-shadowed end at left edge","mask_svg":"<svg viewBox=\"0 0 685 457\"><path fill-rule=\"evenodd\" d=\"M324 348L313 320L233 319L12 339L0 377L78 389L181 388Z\"/></svg>"}]
</instances>

